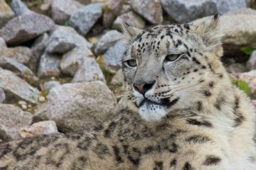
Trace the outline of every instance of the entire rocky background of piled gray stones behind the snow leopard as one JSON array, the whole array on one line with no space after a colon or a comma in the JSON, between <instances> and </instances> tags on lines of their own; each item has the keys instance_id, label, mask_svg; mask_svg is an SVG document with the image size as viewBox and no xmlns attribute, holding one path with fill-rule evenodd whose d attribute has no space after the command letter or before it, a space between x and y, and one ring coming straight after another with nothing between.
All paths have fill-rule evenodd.
<instances>
[{"instance_id":1,"label":"entire rocky background of piled gray stones behind the snow leopard","mask_svg":"<svg viewBox=\"0 0 256 170\"><path fill-rule=\"evenodd\" d=\"M0 142L70 132L122 108L122 23L139 28L220 13L222 58L256 98L254 0L0 0ZM255 102L256 103L256 102Z\"/></svg>"}]
</instances>

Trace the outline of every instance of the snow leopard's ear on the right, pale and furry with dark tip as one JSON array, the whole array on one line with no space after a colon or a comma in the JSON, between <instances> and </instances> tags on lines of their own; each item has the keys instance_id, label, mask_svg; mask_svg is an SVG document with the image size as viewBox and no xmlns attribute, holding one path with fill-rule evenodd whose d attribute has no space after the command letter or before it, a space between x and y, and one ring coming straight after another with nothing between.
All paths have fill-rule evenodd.
<instances>
[{"instance_id":1,"label":"snow leopard's ear on the right, pale and furry with dark tip","mask_svg":"<svg viewBox=\"0 0 256 170\"><path fill-rule=\"evenodd\" d=\"M206 47L214 48L222 44L223 33L220 33L219 19L220 15L217 13L203 22L198 21L191 25L191 30L201 36Z\"/></svg>"}]
</instances>

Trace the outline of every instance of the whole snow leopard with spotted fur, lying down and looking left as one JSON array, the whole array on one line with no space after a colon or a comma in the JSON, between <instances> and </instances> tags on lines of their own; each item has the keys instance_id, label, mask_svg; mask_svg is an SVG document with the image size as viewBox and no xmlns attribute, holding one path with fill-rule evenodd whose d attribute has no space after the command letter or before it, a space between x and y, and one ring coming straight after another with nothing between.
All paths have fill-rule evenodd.
<instances>
[{"instance_id":1,"label":"whole snow leopard with spotted fur, lying down and looking left","mask_svg":"<svg viewBox=\"0 0 256 170\"><path fill-rule=\"evenodd\" d=\"M220 62L218 16L125 24L127 107L90 130L0 145L0 169L256 169L255 111Z\"/></svg>"}]
</instances>

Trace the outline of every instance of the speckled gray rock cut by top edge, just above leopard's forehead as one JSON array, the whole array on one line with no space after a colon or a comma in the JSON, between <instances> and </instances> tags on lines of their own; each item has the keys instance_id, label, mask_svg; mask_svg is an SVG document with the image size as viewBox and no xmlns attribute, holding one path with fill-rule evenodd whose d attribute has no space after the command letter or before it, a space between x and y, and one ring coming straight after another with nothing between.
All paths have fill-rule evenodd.
<instances>
[{"instance_id":1,"label":"speckled gray rock cut by top edge, just above leopard's forehead","mask_svg":"<svg viewBox=\"0 0 256 170\"><path fill-rule=\"evenodd\" d=\"M150 23L159 24L164 21L161 0L134 0L132 8Z\"/></svg>"}]
</instances>

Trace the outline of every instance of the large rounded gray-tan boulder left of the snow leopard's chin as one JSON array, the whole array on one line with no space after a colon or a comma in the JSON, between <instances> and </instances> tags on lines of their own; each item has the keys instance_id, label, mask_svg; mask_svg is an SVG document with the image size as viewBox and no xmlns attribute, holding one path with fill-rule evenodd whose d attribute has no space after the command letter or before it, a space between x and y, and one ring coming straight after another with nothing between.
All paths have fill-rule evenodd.
<instances>
[{"instance_id":1,"label":"large rounded gray-tan boulder left of the snow leopard's chin","mask_svg":"<svg viewBox=\"0 0 256 170\"><path fill-rule=\"evenodd\" d=\"M46 116L62 132L88 128L109 119L117 101L102 81L63 84L50 90Z\"/></svg>"}]
</instances>

